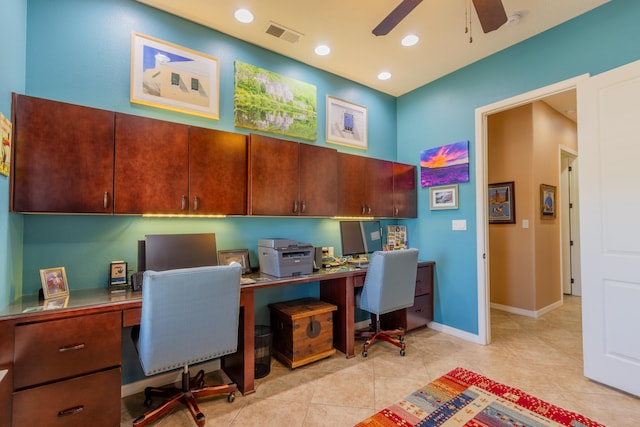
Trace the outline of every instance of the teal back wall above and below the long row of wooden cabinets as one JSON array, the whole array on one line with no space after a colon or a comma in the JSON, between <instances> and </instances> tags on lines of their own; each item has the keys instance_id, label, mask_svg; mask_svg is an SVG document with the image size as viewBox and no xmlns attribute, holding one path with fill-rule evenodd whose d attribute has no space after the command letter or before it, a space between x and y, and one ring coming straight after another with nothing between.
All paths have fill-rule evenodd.
<instances>
[{"instance_id":1,"label":"teal back wall above and below the long row of wooden cabinets","mask_svg":"<svg viewBox=\"0 0 640 427\"><path fill-rule=\"evenodd\" d=\"M395 160L396 98L353 84L235 38L130 0L29 0L26 94L248 133L233 126L234 61L254 64L317 87L318 138L325 143L325 95L367 105L369 150L340 151ZM220 59L220 119L211 120L129 102L132 32ZM308 142L308 141L302 141ZM413 162L416 164L416 161ZM274 171L277 177L278 171ZM249 248L256 262L259 238L284 237L339 248L337 222L326 219L146 219L105 216L24 216L23 293L40 287L40 268L66 268L69 286L104 286L108 265L136 267L136 241L149 233L215 232L220 249Z\"/></svg>"}]
</instances>

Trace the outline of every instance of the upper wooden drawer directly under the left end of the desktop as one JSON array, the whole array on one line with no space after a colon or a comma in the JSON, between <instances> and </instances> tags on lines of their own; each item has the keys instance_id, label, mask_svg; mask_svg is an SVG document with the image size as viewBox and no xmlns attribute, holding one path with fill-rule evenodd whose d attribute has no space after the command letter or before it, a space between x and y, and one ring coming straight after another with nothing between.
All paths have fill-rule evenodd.
<instances>
[{"instance_id":1,"label":"upper wooden drawer directly under the left end of the desktop","mask_svg":"<svg viewBox=\"0 0 640 427\"><path fill-rule=\"evenodd\" d=\"M120 366L120 311L17 326L14 390Z\"/></svg>"}]
</instances>

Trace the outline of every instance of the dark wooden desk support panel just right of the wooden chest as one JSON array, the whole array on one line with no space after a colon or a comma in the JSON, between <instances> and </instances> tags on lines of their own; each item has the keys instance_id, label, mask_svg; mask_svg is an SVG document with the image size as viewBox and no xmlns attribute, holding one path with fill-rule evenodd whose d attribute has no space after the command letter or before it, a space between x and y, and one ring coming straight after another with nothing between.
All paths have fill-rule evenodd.
<instances>
[{"instance_id":1,"label":"dark wooden desk support panel just right of the wooden chest","mask_svg":"<svg viewBox=\"0 0 640 427\"><path fill-rule=\"evenodd\" d=\"M353 277L323 280L320 283L320 299L338 307L333 312L333 345L346 354L355 356L355 297Z\"/></svg>"}]
</instances>

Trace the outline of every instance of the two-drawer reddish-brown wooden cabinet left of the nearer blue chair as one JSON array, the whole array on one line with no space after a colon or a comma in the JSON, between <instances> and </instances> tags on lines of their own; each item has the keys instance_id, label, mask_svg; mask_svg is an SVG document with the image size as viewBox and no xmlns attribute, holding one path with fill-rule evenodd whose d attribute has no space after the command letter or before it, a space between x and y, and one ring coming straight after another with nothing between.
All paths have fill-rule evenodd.
<instances>
[{"instance_id":1,"label":"two-drawer reddish-brown wooden cabinet left of the nearer blue chair","mask_svg":"<svg viewBox=\"0 0 640 427\"><path fill-rule=\"evenodd\" d=\"M17 324L14 426L120 425L120 311Z\"/></svg>"}]
</instances>

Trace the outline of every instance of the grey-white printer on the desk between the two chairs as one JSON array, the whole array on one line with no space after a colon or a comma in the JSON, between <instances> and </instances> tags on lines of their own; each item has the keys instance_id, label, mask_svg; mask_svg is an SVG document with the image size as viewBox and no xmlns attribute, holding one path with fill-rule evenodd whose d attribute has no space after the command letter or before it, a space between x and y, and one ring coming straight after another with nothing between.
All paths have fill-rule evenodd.
<instances>
[{"instance_id":1,"label":"grey-white printer on the desk between the two chairs","mask_svg":"<svg viewBox=\"0 0 640 427\"><path fill-rule=\"evenodd\" d=\"M313 271L314 248L289 239L259 239L260 272L276 277L299 276Z\"/></svg>"}]
</instances>

